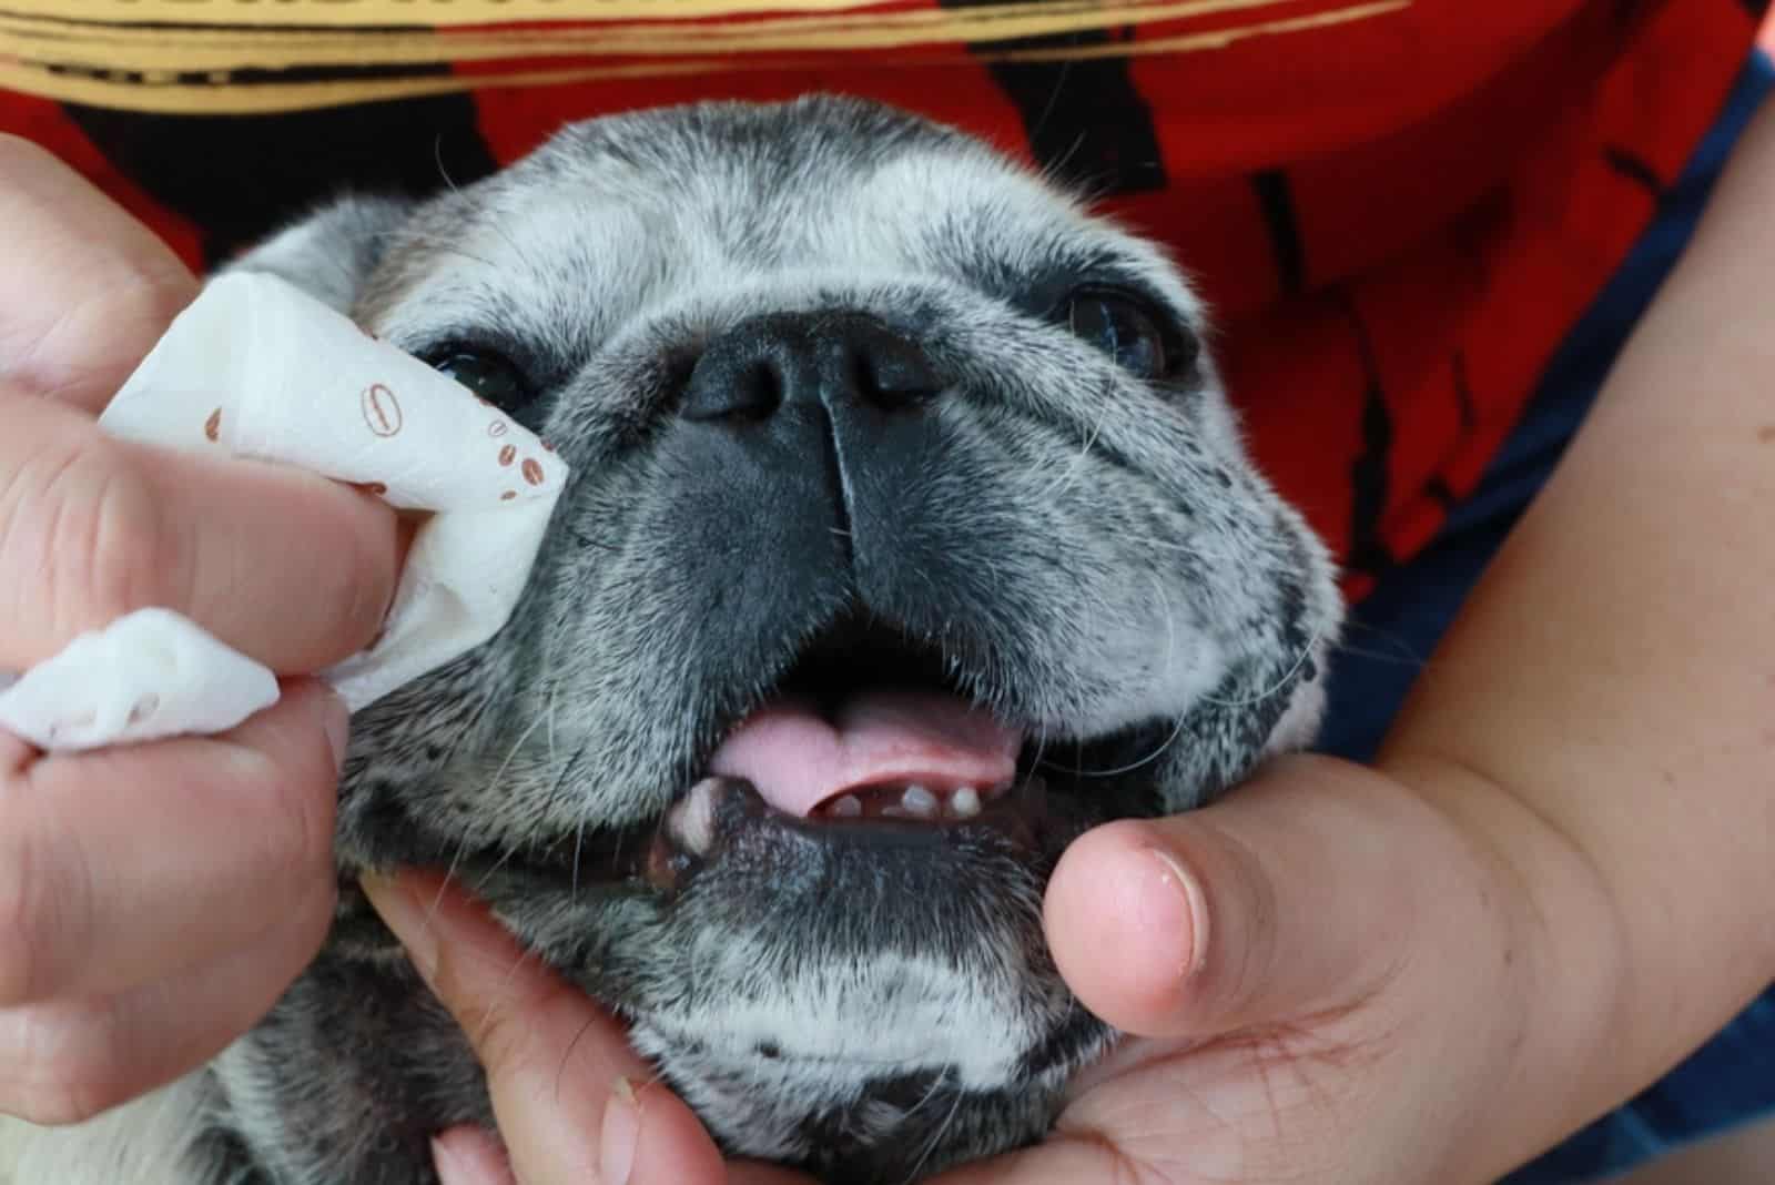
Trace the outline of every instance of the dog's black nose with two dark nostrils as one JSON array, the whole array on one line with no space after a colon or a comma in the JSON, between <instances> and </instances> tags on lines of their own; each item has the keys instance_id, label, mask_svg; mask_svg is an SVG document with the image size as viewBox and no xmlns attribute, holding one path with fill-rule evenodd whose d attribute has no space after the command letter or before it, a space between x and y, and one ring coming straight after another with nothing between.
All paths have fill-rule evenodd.
<instances>
[{"instance_id":1,"label":"dog's black nose with two dark nostrils","mask_svg":"<svg viewBox=\"0 0 1775 1185\"><path fill-rule=\"evenodd\" d=\"M763 420L793 403L912 410L943 388L911 339L859 314L770 314L733 326L690 371L680 415Z\"/></svg>"}]
</instances>

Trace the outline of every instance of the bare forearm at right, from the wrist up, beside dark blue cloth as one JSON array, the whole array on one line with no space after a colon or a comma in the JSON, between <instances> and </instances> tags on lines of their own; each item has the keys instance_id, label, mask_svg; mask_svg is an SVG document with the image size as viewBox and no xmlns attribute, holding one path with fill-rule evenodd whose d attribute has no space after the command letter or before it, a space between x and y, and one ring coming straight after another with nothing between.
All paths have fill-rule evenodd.
<instances>
[{"instance_id":1,"label":"bare forearm at right, from the wrist up, beside dark blue cloth","mask_svg":"<svg viewBox=\"0 0 1775 1185\"><path fill-rule=\"evenodd\" d=\"M1512 1148L1775 976L1775 108L1379 768L1489 836L1541 912Z\"/></svg>"}]
</instances>

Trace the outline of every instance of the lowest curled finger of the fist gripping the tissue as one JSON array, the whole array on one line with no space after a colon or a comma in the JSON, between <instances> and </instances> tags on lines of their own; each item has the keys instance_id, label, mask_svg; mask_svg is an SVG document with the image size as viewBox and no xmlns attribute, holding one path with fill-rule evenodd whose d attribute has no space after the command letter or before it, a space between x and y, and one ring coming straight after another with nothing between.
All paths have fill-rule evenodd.
<instances>
[{"instance_id":1,"label":"lowest curled finger of the fist gripping the tissue","mask_svg":"<svg viewBox=\"0 0 1775 1185\"><path fill-rule=\"evenodd\" d=\"M314 958L332 887L284 905L282 924L112 997L0 1009L0 1112L80 1123L190 1073L257 1024Z\"/></svg>"}]
</instances>

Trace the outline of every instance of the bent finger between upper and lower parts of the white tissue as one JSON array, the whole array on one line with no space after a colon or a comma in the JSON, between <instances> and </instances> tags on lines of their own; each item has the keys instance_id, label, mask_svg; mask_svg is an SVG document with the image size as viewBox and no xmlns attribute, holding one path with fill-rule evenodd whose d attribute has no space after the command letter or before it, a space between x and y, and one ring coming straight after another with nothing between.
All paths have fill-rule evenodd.
<instances>
[{"instance_id":1,"label":"bent finger between upper and lower parts of the white tissue","mask_svg":"<svg viewBox=\"0 0 1775 1185\"><path fill-rule=\"evenodd\" d=\"M18 390L0 388L0 669L147 605L286 674L382 628L399 559L387 504L289 467L114 440Z\"/></svg>"}]
</instances>

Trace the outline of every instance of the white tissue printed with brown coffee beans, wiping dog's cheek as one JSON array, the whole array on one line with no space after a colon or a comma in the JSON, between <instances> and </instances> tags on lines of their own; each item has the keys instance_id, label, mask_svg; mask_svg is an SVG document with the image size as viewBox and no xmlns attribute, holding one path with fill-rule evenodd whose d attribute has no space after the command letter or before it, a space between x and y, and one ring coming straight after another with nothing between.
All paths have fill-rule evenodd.
<instances>
[{"instance_id":1,"label":"white tissue printed with brown coffee beans, wiping dog's cheek","mask_svg":"<svg viewBox=\"0 0 1775 1185\"><path fill-rule=\"evenodd\" d=\"M548 445L467 387L247 271L211 280L174 319L99 428L295 465L430 513L382 635L321 672L353 711L504 626L568 479ZM165 608L82 635L11 683L0 674L0 727L44 750L222 733L277 701L266 667Z\"/></svg>"}]
</instances>

